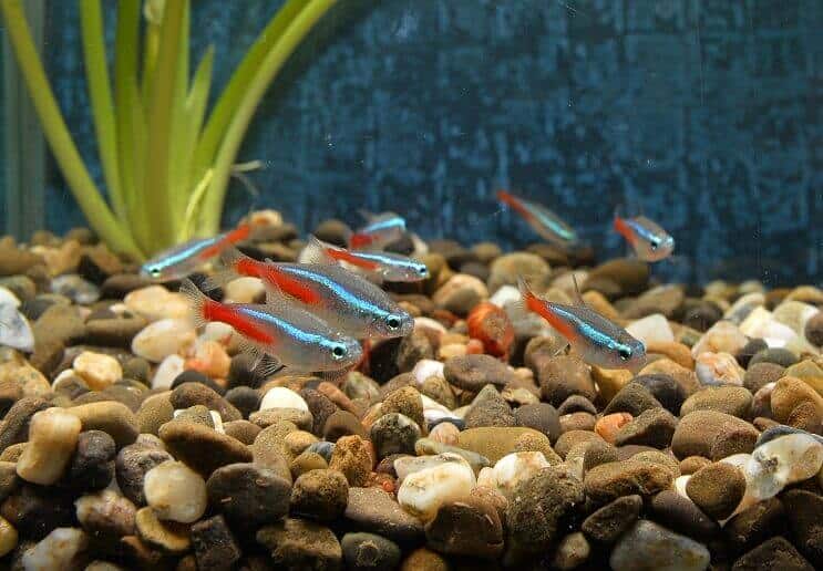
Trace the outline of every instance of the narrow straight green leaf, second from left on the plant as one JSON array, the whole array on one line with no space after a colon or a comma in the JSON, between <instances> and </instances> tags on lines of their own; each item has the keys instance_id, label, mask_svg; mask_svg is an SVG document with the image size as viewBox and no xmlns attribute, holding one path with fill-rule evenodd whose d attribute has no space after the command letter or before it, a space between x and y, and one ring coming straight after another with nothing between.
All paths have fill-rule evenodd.
<instances>
[{"instance_id":1,"label":"narrow straight green leaf, second from left on the plant","mask_svg":"<svg viewBox=\"0 0 823 571\"><path fill-rule=\"evenodd\" d=\"M89 98L92 103L94 129L97 135L97 153L103 166L109 197L117 217L125 222L125 203L120 188L120 165L117 164L117 131L114 120L109 70L105 61L103 41L103 15L100 0L80 1L80 24L83 38L85 76L89 84Z\"/></svg>"}]
</instances>

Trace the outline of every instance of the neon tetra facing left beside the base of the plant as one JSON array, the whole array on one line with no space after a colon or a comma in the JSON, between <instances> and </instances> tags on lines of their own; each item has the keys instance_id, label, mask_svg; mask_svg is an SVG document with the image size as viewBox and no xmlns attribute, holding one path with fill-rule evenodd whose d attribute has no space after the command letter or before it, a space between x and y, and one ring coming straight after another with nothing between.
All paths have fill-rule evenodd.
<instances>
[{"instance_id":1,"label":"neon tetra facing left beside the base of the plant","mask_svg":"<svg viewBox=\"0 0 823 571\"><path fill-rule=\"evenodd\" d=\"M248 238L250 233L251 225L241 224L232 231L212 238L188 240L160 252L145 262L140 269L140 274L155 282L183 279L219 256L226 248Z\"/></svg>"}]
</instances>

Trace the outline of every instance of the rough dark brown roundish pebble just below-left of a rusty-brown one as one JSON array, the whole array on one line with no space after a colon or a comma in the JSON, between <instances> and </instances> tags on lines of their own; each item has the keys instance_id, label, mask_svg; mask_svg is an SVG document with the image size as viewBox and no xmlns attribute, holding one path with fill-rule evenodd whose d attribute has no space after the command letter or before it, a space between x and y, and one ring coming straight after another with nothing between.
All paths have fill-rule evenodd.
<instances>
[{"instance_id":1,"label":"rough dark brown roundish pebble just below-left of a rusty-brown one","mask_svg":"<svg viewBox=\"0 0 823 571\"><path fill-rule=\"evenodd\" d=\"M335 521L346 511L349 484L337 470L302 474L291 488L290 512L318 521Z\"/></svg>"}]
</instances>

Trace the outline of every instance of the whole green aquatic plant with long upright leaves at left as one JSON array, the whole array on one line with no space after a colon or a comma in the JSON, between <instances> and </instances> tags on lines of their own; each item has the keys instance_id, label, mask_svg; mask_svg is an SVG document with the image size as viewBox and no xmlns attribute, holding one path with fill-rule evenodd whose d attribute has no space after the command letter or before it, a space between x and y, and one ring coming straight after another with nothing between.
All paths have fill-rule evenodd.
<instances>
[{"instance_id":1,"label":"whole green aquatic plant with long upright leaves at left","mask_svg":"<svg viewBox=\"0 0 823 571\"><path fill-rule=\"evenodd\" d=\"M113 82L100 0L79 0L83 56L107 200L58 107L21 0L0 0L10 43L63 176L89 224L137 260L217 232L237 150L266 89L336 0L288 0L206 117L214 46L189 80L189 0L120 0Z\"/></svg>"}]
</instances>

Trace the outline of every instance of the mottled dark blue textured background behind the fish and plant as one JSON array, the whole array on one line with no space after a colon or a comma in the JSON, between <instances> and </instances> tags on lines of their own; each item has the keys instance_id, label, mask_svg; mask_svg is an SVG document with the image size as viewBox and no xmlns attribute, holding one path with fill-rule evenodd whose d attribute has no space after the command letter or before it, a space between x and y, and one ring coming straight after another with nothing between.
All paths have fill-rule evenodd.
<instances>
[{"instance_id":1,"label":"mottled dark blue textured background behind the fish and plant","mask_svg":"<svg viewBox=\"0 0 823 571\"><path fill-rule=\"evenodd\" d=\"M280 2L193 4L193 53L217 45L222 85ZM50 9L50 76L93 159L75 2ZM604 253L623 251L613 210L644 211L678 239L661 266L678 279L819 281L821 30L820 0L341 0L240 158L266 163L266 206L305 229L366 207L424 237L525 245L502 185ZM52 183L49 224L79 224ZM246 206L238 186L227 221Z\"/></svg>"}]
</instances>

